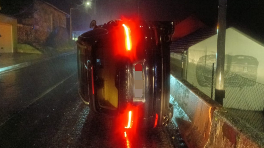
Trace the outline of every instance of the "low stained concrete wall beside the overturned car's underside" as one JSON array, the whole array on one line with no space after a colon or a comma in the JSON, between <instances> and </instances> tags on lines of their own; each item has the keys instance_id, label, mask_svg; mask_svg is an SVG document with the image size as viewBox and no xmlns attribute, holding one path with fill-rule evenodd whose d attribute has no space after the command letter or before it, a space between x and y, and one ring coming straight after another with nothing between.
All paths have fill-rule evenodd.
<instances>
[{"instance_id":1,"label":"low stained concrete wall beside the overturned car's underside","mask_svg":"<svg viewBox=\"0 0 264 148\"><path fill-rule=\"evenodd\" d=\"M242 123L187 81L171 76L172 122L188 147L264 147L264 135Z\"/></svg>"}]
</instances>

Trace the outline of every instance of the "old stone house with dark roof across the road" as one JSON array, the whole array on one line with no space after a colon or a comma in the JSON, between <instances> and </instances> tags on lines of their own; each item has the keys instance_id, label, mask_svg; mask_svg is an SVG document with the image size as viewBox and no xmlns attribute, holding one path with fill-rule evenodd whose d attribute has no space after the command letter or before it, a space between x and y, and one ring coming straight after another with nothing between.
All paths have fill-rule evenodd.
<instances>
[{"instance_id":1,"label":"old stone house with dark roof across the road","mask_svg":"<svg viewBox=\"0 0 264 148\"><path fill-rule=\"evenodd\" d=\"M18 48L27 45L45 52L63 46L69 39L66 19L70 15L52 4L42 0L12 0L3 1L1 8L2 13L17 19Z\"/></svg>"}]
</instances>

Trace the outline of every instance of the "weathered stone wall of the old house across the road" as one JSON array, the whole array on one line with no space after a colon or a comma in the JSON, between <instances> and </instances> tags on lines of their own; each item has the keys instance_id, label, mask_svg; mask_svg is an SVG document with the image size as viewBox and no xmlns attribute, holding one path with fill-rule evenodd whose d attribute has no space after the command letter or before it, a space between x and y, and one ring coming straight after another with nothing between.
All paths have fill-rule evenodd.
<instances>
[{"instance_id":1,"label":"weathered stone wall of the old house across the road","mask_svg":"<svg viewBox=\"0 0 264 148\"><path fill-rule=\"evenodd\" d=\"M21 44L56 47L58 32L64 35L59 42L68 40L65 13L45 2L35 0L32 10L19 19L19 23L18 41Z\"/></svg>"}]
</instances>

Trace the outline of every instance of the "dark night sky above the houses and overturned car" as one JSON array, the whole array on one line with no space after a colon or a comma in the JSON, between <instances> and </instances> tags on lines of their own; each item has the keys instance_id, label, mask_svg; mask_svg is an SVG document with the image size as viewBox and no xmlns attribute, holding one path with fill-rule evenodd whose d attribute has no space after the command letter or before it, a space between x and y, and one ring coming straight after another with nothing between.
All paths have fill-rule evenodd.
<instances>
[{"instance_id":1,"label":"dark night sky above the houses and overturned car","mask_svg":"<svg viewBox=\"0 0 264 148\"><path fill-rule=\"evenodd\" d=\"M119 19L121 15L140 16L144 20L177 20L196 16L209 26L217 24L218 0L97 0L96 15L94 2L92 6L77 6L81 0L45 0L57 8L72 13L73 25L87 27L92 19L98 24L107 23L112 19ZM86 1L84 1L86 2ZM258 40L264 40L264 1L263 0L227 0L227 26L242 28L251 33ZM32 0L2 0L0 13L14 14L18 10L31 4Z\"/></svg>"}]
</instances>

